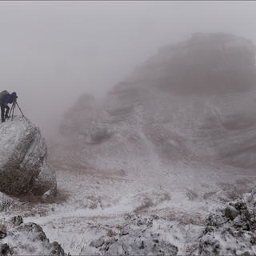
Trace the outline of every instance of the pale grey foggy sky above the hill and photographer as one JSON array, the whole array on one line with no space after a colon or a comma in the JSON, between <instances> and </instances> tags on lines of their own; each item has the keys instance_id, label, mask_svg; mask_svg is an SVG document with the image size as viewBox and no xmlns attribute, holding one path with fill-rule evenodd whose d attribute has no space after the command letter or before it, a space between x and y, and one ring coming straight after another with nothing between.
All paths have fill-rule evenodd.
<instances>
[{"instance_id":1,"label":"pale grey foggy sky above the hill and photographer","mask_svg":"<svg viewBox=\"0 0 256 256\"><path fill-rule=\"evenodd\" d=\"M48 140L80 94L102 99L159 47L195 32L256 45L255 24L254 1L0 1L0 90Z\"/></svg>"}]
</instances>

